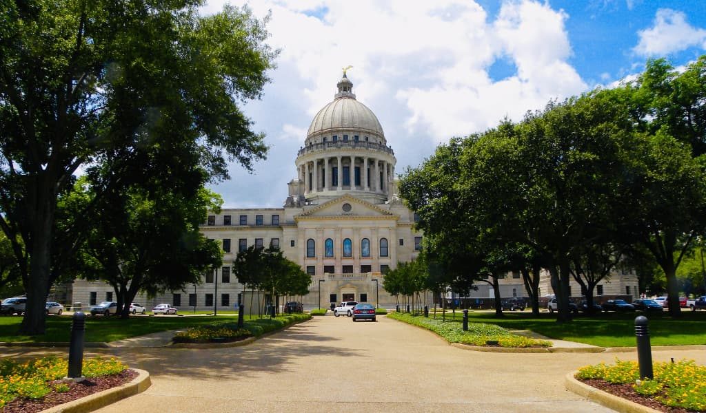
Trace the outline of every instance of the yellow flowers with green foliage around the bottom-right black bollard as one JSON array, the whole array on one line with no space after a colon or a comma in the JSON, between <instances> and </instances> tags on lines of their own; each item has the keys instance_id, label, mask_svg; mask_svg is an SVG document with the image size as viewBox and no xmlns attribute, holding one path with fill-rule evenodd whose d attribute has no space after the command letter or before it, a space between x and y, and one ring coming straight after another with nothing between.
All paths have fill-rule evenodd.
<instances>
[{"instance_id":1,"label":"yellow flowers with green foliage around the bottom-right black bollard","mask_svg":"<svg viewBox=\"0 0 706 413\"><path fill-rule=\"evenodd\" d=\"M669 408L689 412L706 411L706 366L698 366L693 360L657 362L653 365L653 371L653 380L640 380L640 366L637 362L621 362L616 359L616 364L610 366L601 363L582 367L576 378L633 401L644 397L647 401L653 400ZM630 390L635 397L630 395Z\"/></svg>"}]
</instances>

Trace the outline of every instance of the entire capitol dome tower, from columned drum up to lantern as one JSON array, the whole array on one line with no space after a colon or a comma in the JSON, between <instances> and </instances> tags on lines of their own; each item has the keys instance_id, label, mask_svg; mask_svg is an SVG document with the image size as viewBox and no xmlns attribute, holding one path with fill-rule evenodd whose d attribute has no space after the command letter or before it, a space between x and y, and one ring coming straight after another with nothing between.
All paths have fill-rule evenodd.
<instances>
[{"instance_id":1,"label":"entire capitol dome tower, from columned drum up to lantern","mask_svg":"<svg viewBox=\"0 0 706 413\"><path fill-rule=\"evenodd\" d=\"M375 113L357 101L343 75L333 101L314 116L297 154L299 195L321 204L349 194L373 204L387 202L395 179L395 152Z\"/></svg>"}]
</instances>

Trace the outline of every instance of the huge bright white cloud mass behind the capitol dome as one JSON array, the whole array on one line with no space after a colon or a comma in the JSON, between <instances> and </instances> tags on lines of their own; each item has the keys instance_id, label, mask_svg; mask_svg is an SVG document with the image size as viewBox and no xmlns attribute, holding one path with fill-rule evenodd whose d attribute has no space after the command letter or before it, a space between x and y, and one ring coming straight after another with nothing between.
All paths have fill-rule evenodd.
<instances>
[{"instance_id":1,"label":"huge bright white cloud mass behind the capitol dome","mask_svg":"<svg viewBox=\"0 0 706 413\"><path fill-rule=\"evenodd\" d=\"M213 0L203 11L221 7ZM482 132L505 116L520 120L550 99L587 89L568 63L568 16L544 1L506 0L491 20L467 0L258 0L250 7L260 17L271 11L268 43L282 49L263 101L246 108L271 145L256 175L234 171L234 180L255 188L267 185L265 175L274 173L267 168L278 174L270 186L296 176L296 150L347 65L354 92L396 151L397 171L417 166L438 142ZM500 59L512 61L516 73L493 80ZM278 193L271 204L284 200L286 187Z\"/></svg>"}]
</instances>

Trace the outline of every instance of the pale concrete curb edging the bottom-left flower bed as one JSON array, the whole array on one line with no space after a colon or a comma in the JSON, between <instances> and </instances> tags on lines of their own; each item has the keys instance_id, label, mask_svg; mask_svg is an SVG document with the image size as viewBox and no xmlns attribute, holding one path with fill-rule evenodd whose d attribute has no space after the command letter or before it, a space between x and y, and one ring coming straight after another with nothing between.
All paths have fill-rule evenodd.
<instances>
[{"instance_id":1,"label":"pale concrete curb edging the bottom-left flower bed","mask_svg":"<svg viewBox=\"0 0 706 413\"><path fill-rule=\"evenodd\" d=\"M42 410L41 413L86 413L92 412L94 410L100 409L110 405L118 400L123 400L132 395L142 393L147 390L152 382L150 381L150 373L145 370L131 369L138 372L138 376L133 378L130 383L125 383L116 388L109 388L108 390L103 390L86 397L81 397L80 399L71 400L71 402L64 403L63 405L58 405L50 407L49 409Z\"/></svg>"}]
</instances>

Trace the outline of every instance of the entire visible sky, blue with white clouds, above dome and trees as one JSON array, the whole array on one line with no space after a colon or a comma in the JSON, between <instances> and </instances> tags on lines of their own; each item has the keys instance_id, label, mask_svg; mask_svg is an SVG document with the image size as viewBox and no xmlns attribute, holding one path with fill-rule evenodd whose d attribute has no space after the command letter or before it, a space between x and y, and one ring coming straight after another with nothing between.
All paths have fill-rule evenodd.
<instances>
[{"instance_id":1,"label":"entire visible sky, blue with white clouds, above dome and trees","mask_svg":"<svg viewBox=\"0 0 706 413\"><path fill-rule=\"evenodd\" d=\"M268 157L210 185L226 208L282 206L346 66L403 173L451 137L616 85L647 59L680 67L706 54L706 0L210 0L201 13L224 4L269 16L267 43L280 50L262 99L244 104Z\"/></svg>"}]
</instances>

